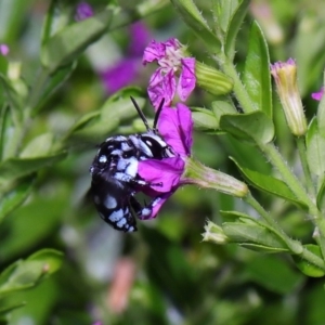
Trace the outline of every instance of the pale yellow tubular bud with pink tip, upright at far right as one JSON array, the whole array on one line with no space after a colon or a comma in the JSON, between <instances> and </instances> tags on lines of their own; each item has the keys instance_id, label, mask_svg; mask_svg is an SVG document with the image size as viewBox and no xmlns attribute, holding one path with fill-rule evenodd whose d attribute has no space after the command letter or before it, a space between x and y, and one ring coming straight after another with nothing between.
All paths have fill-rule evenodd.
<instances>
[{"instance_id":1,"label":"pale yellow tubular bud with pink tip, upright at far right","mask_svg":"<svg viewBox=\"0 0 325 325\"><path fill-rule=\"evenodd\" d=\"M276 90L283 105L288 127L294 135L304 135L307 120L297 83L297 65L292 58L271 65Z\"/></svg>"}]
</instances>

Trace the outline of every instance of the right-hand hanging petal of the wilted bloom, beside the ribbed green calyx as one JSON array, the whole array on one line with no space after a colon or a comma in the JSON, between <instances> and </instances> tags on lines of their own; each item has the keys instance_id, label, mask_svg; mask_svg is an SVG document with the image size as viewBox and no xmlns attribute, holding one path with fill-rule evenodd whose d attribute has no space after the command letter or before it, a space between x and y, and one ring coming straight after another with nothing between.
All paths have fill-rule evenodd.
<instances>
[{"instance_id":1,"label":"right-hand hanging petal of the wilted bloom, beside the ribbed green calyx","mask_svg":"<svg viewBox=\"0 0 325 325\"><path fill-rule=\"evenodd\" d=\"M178 84L178 94L180 99L184 102L187 100L190 94L195 88L196 77L195 77L195 58L184 57L182 62L182 72L180 75L180 80Z\"/></svg>"}]
</instances>

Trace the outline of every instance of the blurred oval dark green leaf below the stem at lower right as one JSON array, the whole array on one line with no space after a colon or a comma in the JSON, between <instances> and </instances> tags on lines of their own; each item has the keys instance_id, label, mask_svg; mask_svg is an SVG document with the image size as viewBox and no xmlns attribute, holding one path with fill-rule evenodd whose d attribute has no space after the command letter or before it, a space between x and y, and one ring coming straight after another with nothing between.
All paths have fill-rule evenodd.
<instances>
[{"instance_id":1,"label":"blurred oval dark green leaf below the stem at lower right","mask_svg":"<svg viewBox=\"0 0 325 325\"><path fill-rule=\"evenodd\" d=\"M275 256L257 256L251 259L245 264L245 277L282 295L292 292L303 282L301 274Z\"/></svg>"}]
</instances>

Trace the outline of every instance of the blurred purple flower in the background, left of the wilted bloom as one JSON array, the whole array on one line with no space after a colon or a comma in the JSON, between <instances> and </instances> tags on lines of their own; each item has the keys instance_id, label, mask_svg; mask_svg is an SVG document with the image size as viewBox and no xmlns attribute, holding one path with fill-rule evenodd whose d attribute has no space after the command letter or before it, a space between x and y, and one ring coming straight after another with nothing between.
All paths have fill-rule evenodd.
<instances>
[{"instance_id":1,"label":"blurred purple flower in the background, left of the wilted bloom","mask_svg":"<svg viewBox=\"0 0 325 325\"><path fill-rule=\"evenodd\" d=\"M130 84L140 75L141 57L150 38L147 27L138 22L130 27L131 42L127 56L114 66L100 72L104 87L108 93Z\"/></svg>"}]
</instances>

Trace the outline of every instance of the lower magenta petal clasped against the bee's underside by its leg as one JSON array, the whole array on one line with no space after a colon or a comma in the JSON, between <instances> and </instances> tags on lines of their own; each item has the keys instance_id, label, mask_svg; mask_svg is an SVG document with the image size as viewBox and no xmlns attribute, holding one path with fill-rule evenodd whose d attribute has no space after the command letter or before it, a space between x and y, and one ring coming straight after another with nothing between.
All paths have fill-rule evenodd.
<instances>
[{"instance_id":1,"label":"lower magenta petal clasped against the bee's underside by its leg","mask_svg":"<svg viewBox=\"0 0 325 325\"><path fill-rule=\"evenodd\" d=\"M152 184L161 183L161 186L153 185L150 188L144 188L143 192L153 196L155 193L168 193L176 190L184 171L184 166L185 162L180 157L139 161L138 173L142 179Z\"/></svg>"}]
</instances>

